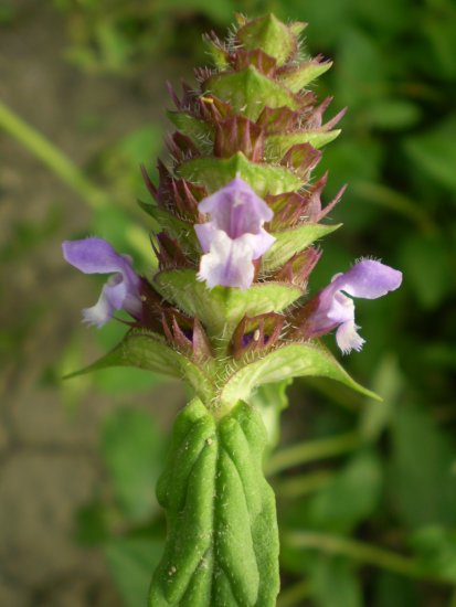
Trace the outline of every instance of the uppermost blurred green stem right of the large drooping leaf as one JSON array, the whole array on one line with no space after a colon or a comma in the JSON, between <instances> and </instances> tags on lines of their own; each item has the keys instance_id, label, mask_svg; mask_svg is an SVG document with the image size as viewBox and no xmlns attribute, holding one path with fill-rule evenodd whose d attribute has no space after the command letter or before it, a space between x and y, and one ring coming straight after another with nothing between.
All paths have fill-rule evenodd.
<instances>
[{"instance_id":1,"label":"uppermost blurred green stem right of the large drooping leaf","mask_svg":"<svg viewBox=\"0 0 456 607\"><path fill-rule=\"evenodd\" d=\"M274 454L266 466L266 473L275 475L293 466L352 451L359 445L361 445L361 438L357 433L342 434L331 438L320 438L310 443L300 443Z\"/></svg>"}]
</instances>

